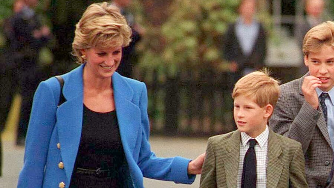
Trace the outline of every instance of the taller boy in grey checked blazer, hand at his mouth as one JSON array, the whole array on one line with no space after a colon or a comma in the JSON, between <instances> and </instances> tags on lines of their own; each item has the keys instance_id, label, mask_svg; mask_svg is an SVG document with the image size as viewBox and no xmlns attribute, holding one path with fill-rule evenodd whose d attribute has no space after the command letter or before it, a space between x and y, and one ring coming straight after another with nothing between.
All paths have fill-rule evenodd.
<instances>
[{"instance_id":1,"label":"taller boy in grey checked blazer, hand at his mouth","mask_svg":"<svg viewBox=\"0 0 334 188\"><path fill-rule=\"evenodd\" d=\"M333 36L332 21L306 33L303 53L309 72L281 85L281 95L269 120L275 132L302 144L310 188L334 187Z\"/></svg>"}]
</instances>

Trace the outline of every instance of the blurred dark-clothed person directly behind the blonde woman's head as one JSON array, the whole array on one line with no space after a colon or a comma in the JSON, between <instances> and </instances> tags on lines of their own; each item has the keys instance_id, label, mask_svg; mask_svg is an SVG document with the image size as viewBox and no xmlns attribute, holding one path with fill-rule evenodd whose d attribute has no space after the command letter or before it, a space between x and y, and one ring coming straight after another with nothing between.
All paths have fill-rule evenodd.
<instances>
[{"instance_id":1,"label":"blurred dark-clothed person directly behind the blonde woman's head","mask_svg":"<svg viewBox=\"0 0 334 188\"><path fill-rule=\"evenodd\" d=\"M114 5L120 8L121 13L127 19L127 22L132 30L132 41L128 46L123 48L123 57L121 60L121 64L117 69L117 72L122 76L131 78L136 55L135 46L144 35L145 29L140 24L136 23L135 16L126 9L131 5L132 0L113 0L112 2L114 3Z\"/></svg>"}]
</instances>

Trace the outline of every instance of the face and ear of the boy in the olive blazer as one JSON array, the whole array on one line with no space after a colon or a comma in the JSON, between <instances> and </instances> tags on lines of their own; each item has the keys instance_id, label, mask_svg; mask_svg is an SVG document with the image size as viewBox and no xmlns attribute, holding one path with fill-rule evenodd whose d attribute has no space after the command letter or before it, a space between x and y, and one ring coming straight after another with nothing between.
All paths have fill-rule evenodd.
<instances>
[{"instance_id":1,"label":"face and ear of the boy in the olive blazer","mask_svg":"<svg viewBox=\"0 0 334 188\"><path fill-rule=\"evenodd\" d=\"M240 132L245 132L253 138L266 129L267 120L272 112L273 106L270 104L261 108L251 97L245 95L234 97L235 124Z\"/></svg>"}]
</instances>

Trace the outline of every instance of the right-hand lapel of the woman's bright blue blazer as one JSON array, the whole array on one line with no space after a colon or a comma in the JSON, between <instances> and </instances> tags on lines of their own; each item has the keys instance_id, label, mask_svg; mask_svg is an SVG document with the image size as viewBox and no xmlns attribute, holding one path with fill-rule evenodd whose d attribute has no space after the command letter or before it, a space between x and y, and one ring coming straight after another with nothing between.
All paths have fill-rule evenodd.
<instances>
[{"instance_id":1,"label":"right-hand lapel of the woman's bright blue blazer","mask_svg":"<svg viewBox=\"0 0 334 188\"><path fill-rule=\"evenodd\" d=\"M132 102L134 92L125 78L115 72L112 79L123 149L125 154L129 155L135 149L138 130L141 126L141 113L139 107Z\"/></svg>"}]
</instances>

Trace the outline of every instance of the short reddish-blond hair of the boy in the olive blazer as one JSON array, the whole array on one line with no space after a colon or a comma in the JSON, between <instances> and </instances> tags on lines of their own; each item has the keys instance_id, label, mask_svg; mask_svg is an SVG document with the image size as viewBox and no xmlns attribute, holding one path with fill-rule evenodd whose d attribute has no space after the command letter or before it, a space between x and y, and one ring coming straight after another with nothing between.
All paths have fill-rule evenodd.
<instances>
[{"instance_id":1,"label":"short reddish-blond hair of the boy in the olive blazer","mask_svg":"<svg viewBox=\"0 0 334 188\"><path fill-rule=\"evenodd\" d=\"M275 107L280 95L279 81L270 76L267 69L255 71L240 78L233 88L232 98L239 95L252 97L260 107Z\"/></svg>"}]
</instances>

